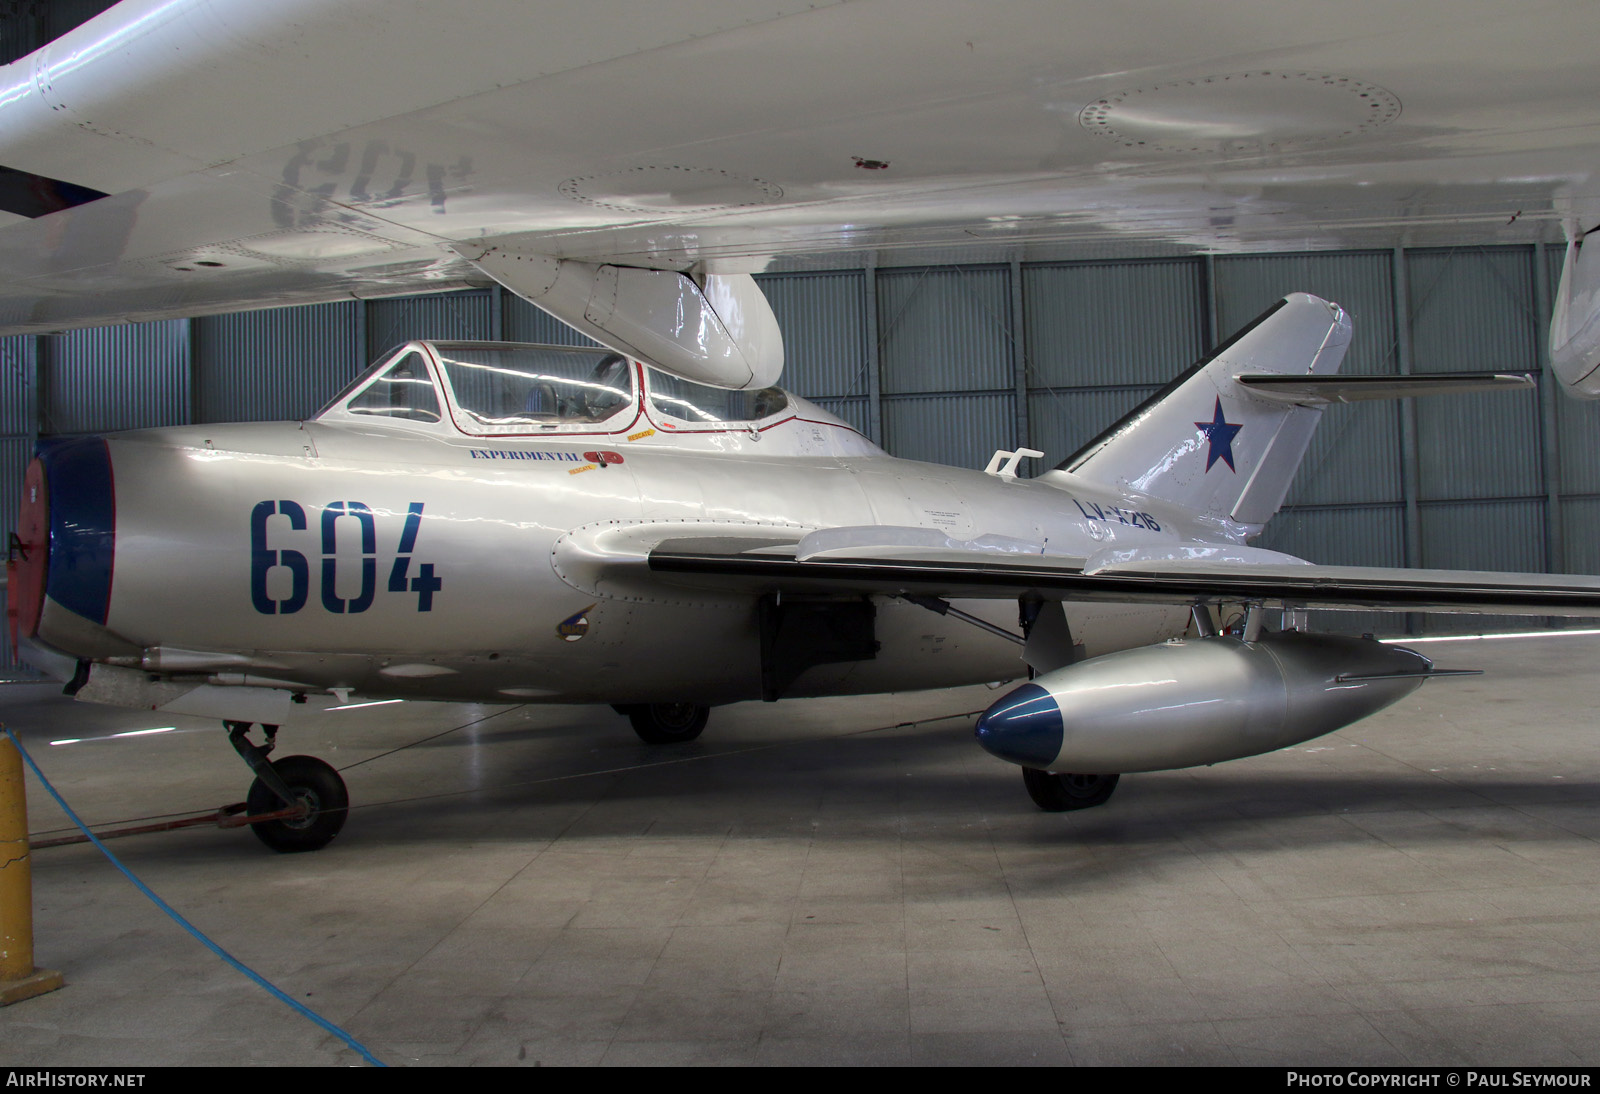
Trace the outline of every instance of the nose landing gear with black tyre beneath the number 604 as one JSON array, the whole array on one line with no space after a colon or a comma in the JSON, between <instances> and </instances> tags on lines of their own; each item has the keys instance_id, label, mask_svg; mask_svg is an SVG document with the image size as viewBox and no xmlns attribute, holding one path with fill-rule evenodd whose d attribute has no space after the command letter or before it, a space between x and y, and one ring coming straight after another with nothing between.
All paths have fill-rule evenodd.
<instances>
[{"instance_id":1,"label":"nose landing gear with black tyre beneath the number 604","mask_svg":"<svg viewBox=\"0 0 1600 1094\"><path fill-rule=\"evenodd\" d=\"M245 798L246 816L269 817L251 822L256 838L283 854L318 851L333 843L350 808L339 773L317 757L283 757L269 763L277 726L262 725L267 742L256 745L250 741L251 723L222 725L227 726L229 744L256 773Z\"/></svg>"}]
</instances>

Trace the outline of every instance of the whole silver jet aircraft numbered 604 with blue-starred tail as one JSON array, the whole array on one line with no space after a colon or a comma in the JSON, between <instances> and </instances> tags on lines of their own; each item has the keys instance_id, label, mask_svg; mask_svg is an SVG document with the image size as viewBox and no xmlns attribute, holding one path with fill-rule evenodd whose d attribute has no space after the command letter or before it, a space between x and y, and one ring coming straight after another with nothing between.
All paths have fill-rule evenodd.
<instances>
[{"instance_id":1,"label":"whole silver jet aircraft numbered 604 with blue-starred tail","mask_svg":"<svg viewBox=\"0 0 1600 1094\"><path fill-rule=\"evenodd\" d=\"M1059 467L893 459L776 387L605 349L413 342L307 422L46 440L13 640L80 699L227 720L254 832L325 846L347 795L267 760L307 696L710 707L1034 678L978 723L1045 809L1299 742L1427 659L1267 630L1302 608L1600 614L1600 579L1318 568L1250 547L1323 406L1520 377L1334 377L1350 321L1277 304ZM1237 633L1214 609L1245 608ZM259 723L266 744L250 737Z\"/></svg>"}]
</instances>

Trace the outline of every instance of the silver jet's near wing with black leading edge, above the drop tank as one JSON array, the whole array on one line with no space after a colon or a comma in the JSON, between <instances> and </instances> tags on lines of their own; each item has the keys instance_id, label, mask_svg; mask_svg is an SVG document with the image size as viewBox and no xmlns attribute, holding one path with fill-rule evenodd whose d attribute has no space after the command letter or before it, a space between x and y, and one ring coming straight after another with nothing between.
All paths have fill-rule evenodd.
<instances>
[{"instance_id":1,"label":"silver jet's near wing with black leading edge, above the drop tank","mask_svg":"<svg viewBox=\"0 0 1600 1094\"><path fill-rule=\"evenodd\" d=\"M928 528L605 525L555 547L586 592L658 598L662 585L718 595L885 595L1283 608L1600 616L1600 577L1464 569L1315 566L1253 547L1178 545L1090 558L1042 555L1000 536Z\"/></svg>"}]
</instances>

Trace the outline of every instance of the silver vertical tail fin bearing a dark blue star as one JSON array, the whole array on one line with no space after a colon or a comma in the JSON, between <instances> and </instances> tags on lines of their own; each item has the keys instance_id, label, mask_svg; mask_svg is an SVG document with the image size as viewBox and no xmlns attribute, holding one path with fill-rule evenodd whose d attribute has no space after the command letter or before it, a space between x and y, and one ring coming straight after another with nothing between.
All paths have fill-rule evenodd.
<instances>
[{"instance_id":1,"label":"silver vertical tail fin bearing a dark blue star","mask_svg":"<svg viewBox=\"0 0 1600 1094\"><path fill-rule=\"evenodd\" d=\"M1306 293L1286 296L1059 470L1208 517L1264 525L1283 504L1322 408L1264 398L1234 377L1336 373L1349 344L1344 309Z\"/></svg>"}]
</instances>

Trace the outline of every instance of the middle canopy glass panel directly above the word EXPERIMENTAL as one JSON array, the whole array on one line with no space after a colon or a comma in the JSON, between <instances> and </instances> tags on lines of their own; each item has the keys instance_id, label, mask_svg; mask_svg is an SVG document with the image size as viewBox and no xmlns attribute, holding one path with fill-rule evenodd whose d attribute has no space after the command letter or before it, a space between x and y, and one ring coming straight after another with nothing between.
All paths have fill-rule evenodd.
<instances>
[{"instance_id":1,"label":"middle canopy glass panel directly above the word EXPERIMENTAL","mask_svg":"<svg viewBox=\"0 0 1600 1094\"><path fill-rule=\"evenodd\" d=\"M464 433L595 432L634 408L634 369L610 350L448 342L434 349Z\"/></svg>"}]
</instances>

